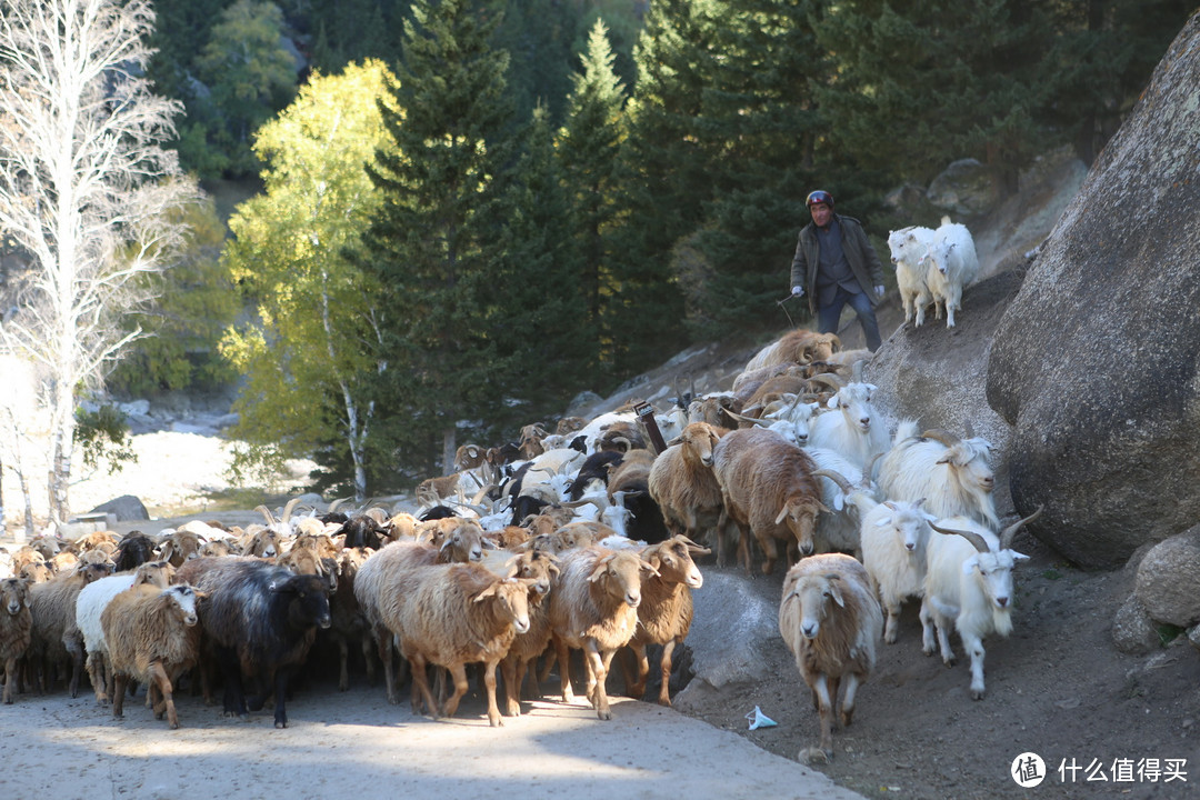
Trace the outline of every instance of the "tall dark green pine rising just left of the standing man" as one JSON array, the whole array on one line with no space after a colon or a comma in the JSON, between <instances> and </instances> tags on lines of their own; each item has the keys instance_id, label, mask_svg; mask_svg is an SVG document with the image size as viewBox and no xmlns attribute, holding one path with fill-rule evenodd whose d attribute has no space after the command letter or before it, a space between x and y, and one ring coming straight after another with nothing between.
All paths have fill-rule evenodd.
<instances>
[{"instance_id":1,"label":"tall dark green pine rising just left of the standing man","mask_svg":"<svg viewBox=\"0 0 1200 800\"><path fill-rule=\"evenodd\" d=\"M724 156L709 178L713 201L695 237L698 259L677 252L689 285L689 323L698 337L778 327L787 264L812 182L822 133L810 86L830 70L809 24L821 0L727 0L715 37L720 61L703 91L700 125ZM822 175L823 181L829 175Z\"/></svg>"}]
</instances>

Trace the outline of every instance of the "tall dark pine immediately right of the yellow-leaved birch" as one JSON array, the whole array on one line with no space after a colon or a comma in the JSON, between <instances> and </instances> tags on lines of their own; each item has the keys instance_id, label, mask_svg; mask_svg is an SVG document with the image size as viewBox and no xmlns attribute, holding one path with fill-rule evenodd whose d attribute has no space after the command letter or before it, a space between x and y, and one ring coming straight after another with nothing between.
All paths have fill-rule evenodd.
<instances>
[{"instance_id":1,"label":"tall dark pine immediately right of the yellow-leaved birch","mask_svg":"<svg viewBox=\"0 0 1200 800\"><path fill-rule=\"evenodd\" d=\"M384 209L365 266L386 288L379 399L398 459L428 474L452 462L456 428L494 416L497 231L491 206L505 164L508 54L466 0L418 0L404 24L384 124L394 146L370 168ZM442 458L437 458L440 449Z\"/></svg>"}]
</instances>

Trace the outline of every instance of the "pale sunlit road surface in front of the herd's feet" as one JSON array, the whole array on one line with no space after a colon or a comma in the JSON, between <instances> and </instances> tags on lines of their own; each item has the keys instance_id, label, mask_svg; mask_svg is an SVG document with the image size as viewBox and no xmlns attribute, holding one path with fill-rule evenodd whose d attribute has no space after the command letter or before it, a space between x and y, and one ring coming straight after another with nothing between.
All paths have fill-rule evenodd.
<instances>
[{"instance_id":1,"label":"pale sunlit road surface in front of the herd's feet","mask_svg":"<svg viewBox=\"0 0 1200 800\"><path fill-rule=\"evenodd\" d=\"M226 720L178 698L170 730L142 698L125 720L80 692L23 694L0 706L0 796L55 800L258 798L859 798L820 772L670 709L614 698L613 721L590 708L536 703L492 729L478 699L433 722L380 688L317 685L270 712Z\"/></svg>"}]
</instances>

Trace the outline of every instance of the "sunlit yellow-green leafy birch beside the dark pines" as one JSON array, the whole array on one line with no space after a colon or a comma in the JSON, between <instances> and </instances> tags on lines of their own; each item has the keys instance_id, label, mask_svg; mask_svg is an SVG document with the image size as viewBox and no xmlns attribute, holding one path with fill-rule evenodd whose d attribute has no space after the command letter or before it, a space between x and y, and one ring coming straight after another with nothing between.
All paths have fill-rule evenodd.
<instances>
[{"instance_id":1,"label":"sunlit yellow-green leafy birch beside the dark pines","mask_svg":"<svg viewBox=\"0 0 1200 800\"><path fill-rule=\"evenodd\" d=\"M391 73L378 60L314 73L296 100L256 134L265 192L238 206L224 263L258 319L232 329L222 353L247 378L238 399L239 470L269 470L336 440L336 475L362 499L378 374L378 290L348 253L382 203L364 164L386 140L377 98ZM338 471L323 464L326 471ZM390 468L390 464L388 465Z\"/></svg>"}]
</instances>

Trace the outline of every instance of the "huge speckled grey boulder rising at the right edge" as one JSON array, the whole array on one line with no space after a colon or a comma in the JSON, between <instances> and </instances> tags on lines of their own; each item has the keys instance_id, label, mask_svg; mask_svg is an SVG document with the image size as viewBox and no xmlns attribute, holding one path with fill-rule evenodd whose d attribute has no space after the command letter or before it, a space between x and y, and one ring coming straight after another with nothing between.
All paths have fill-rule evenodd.
<instances>
[{"instance_id":1,"label":"huge speckled grey boulder rising at the right edge","mask_svg":"<svg viewBox=\"0 0 1200 800\"><path fill-rule=\"evenodd\" d=\"M1018 510L1087 567L1200 519L1200 17L1159 64L996 330Z\"/></svg>"}]
</instances>

